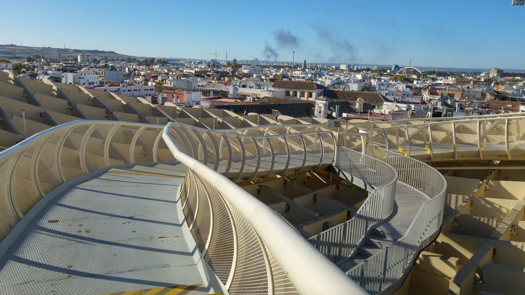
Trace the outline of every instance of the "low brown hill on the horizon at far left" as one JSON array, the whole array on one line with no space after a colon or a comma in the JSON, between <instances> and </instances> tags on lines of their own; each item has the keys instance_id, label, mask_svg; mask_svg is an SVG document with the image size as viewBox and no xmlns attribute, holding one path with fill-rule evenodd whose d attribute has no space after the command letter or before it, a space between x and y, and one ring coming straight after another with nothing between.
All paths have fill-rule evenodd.
<instances>
[{"instance_id":1,"label":"low brown hill on the horizon at far left","mask_svg":"<svg viewBox=\"0 0 525 295\"><path fill-rule=\"evenodd\" d=\"M130 55L118 54L115 51L103 51L103 50L87 50L87 49L70 49L70 48L52 48L52 47L30 47L30 46L17 46L14 44L0 45L0 56L5 57L28 57L37 55L44 55L45 57L58 57L58 51L60 50L60 58L73 58L77 57L78 54L90 54L91 58L101 59L107 58L128 58L133 57Z\"/></svg>"}]
</instances>

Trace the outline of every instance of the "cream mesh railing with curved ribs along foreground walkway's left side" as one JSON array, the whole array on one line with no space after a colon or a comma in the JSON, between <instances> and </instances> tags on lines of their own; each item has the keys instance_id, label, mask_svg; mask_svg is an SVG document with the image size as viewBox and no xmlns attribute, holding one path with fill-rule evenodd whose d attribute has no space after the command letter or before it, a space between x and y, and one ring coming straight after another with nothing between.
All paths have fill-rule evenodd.
<instances>
[{"instance_id":1,"label":"cream mesh railing with curved ribs along foreground walkway's left side","mask_svg":"<svg viewBox=\"0 0 525 295\"><path fill-rule=\"evenodd\" d=\"M149 124L75 121L0 153L0 241L42 197L68 180L114 164L173 161L166 145L159 145L161 132L162 127Z\"/></svg>"}]
</instances>

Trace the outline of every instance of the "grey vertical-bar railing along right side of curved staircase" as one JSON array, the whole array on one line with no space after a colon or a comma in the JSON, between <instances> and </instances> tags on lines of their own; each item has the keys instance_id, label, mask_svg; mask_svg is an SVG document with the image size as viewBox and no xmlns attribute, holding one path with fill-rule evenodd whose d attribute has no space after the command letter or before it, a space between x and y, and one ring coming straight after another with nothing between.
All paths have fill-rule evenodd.
<instances>
[{"instance_id":1,"label":"grey vertical-bar railing along right side of curved staircase","mask_svg":"<svg viewBox=\"0 0 525 295\"><path fill-rule=\"evenodd\" d=\"M446 181L443 175L423 162L382 148L369 146L367 152L390 164L398 181L428 197L419 209L405 235L362 264L348 275L371 294L378 294L400 279L425 240L437 233L443 219Z\"/></svg>"}]
</instances>

